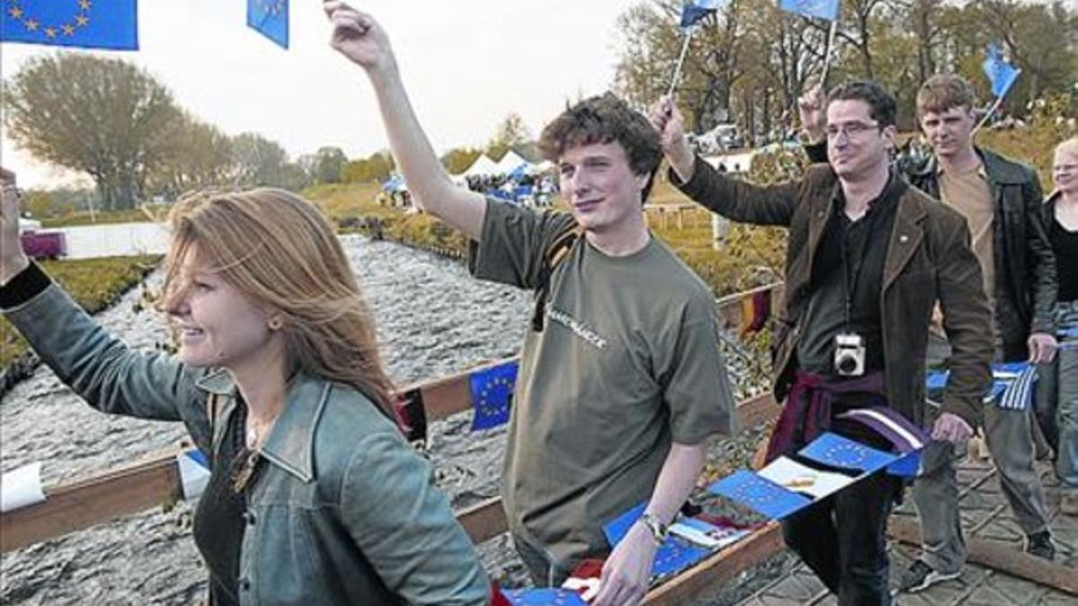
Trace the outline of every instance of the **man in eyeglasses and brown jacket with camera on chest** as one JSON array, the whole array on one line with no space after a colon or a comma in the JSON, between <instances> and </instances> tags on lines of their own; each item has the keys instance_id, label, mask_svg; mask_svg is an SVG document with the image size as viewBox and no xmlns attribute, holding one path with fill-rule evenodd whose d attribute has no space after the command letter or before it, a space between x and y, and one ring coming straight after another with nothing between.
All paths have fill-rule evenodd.
<instances>
[{"instance_id":1,"label":"man in eyeglasses and brown jacket with camera on chest","mask_svg":"<svg viewBox=\"0 0 1078 606\"><path fill-rule=\"evenodd\" d=\"M804 108L819 105L810 94ZM785 305L776 318L775 397L785 399L768 457L796 453L820 430L889 450L840 415L888 407L928 426L924 357L934 306L954 348L934 438L964 442L980 422L991 381L990 307L969 230L955 210L890 169L895 99L853 81L827 104L828 164L797 181L756 185L695 156L669 100L652 109L669 179L734 221L789 228ZM807 423L806 423L807 422ZM839 604L889 604L886 523L902 483L885 471L783 522L798 552Z\"/></svg>"}]
</instances>

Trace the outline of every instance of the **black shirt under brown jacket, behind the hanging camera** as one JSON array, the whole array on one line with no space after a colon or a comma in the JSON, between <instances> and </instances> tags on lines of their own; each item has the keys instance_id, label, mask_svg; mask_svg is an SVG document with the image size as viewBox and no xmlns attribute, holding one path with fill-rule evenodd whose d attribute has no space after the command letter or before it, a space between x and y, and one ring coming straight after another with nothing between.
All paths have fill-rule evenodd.
<instances>
[{"instance_id":1,"label":"black shirt under brown jacket, behind the hanging camera","mask_svg":"<svg viewBox=\"0 0 1078 606\"><path fill-rule=\"evenodd\" d=\"M909 185L890 175L880 195L860 219L851 221L842 188L834 188L831 217L813 260L811 293L798 342L798 366L813 374L834 376L834 338L853 332L865 344L866 374L882 370L883 330L880 295L887 244L895 225L898 198ZM846 292L849 314L846 314Z\"/></svg>"}]
</instances>

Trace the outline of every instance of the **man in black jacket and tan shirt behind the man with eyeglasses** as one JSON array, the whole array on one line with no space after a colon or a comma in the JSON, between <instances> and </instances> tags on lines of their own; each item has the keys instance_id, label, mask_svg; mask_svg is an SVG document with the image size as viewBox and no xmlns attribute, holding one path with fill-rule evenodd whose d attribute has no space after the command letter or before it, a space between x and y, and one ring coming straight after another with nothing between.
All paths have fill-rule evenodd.
<instances>
[{"instance_id":1,"label":"man in black jacket and tan shirt behind the man with eyeglasses","mask_svg":"<svg viewBox=\"0 0 1078 606\"><path fill-rule=\"evenodd\" d=\"M981 264L984 291L993 307L991 332L995 361L1050 362L1055 353L1052 308L1056 294L1055 260L1040 214L1037 173L973 144L977 116L972 86L955 74L929 78L917 92L917 120L932 148L920 162L902 162L914 187L942 201L969 222L973 252ZM805 151L826 157L821 113L807 119L806 135L818 141ZM948 366L950 334L934 316L928 340L930 367ZM984 435L999 471L999 484L1028 553L1052 560L1055 547L1045 507L1045 492L1034 469L1037 421L1033 407L984 409ZM930 444L923 474L913 486L921 517L922 555L903 574L901 589L920 591L957 578L966 563L958 517L955 464L965 447Z\"/></svg>"}]
</instances>

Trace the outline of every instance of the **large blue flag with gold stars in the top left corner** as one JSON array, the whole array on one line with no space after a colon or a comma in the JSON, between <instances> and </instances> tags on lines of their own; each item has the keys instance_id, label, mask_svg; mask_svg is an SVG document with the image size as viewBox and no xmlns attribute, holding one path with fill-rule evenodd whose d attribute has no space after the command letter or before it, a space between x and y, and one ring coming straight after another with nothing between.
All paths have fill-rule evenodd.
<instances>
[{"instance_id":1,"label":"large blue flag with gold stars in the top left corner","mask_svg":"<svg viewBox=\"0 0 1078 606\"><path fill-rule=\"evenodd\" d=\"M0 41L138 50L135 0L0 0Z\"/></svg>"}]
</instances>

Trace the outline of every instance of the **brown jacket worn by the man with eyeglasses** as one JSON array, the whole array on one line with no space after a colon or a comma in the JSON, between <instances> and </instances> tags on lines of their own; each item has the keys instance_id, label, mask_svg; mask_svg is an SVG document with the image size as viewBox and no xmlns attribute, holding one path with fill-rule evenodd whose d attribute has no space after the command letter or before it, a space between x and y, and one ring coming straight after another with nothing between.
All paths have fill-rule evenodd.
<instances>
[{"instance_id":1,"label":"brown jacket worn by the man with eyeglasses","mask_svg":"<svg viewBox=\"0 0 1078 606\"><path fill-rule=\"evenodd\" d=\"M811 268L830 220L839 178L826 164L799 181L755 185L716 171L696 159L692 179L671 181L695 202L731 220L788 226L785 301L775 323L775 397L786 397L797 369L798 340L812 292ZM992 316L966 220L955 210L909 188L898 201L884 262L884 386L890 405L918 425L925 417L925 349L938 301L953 347L943 412L980 424L981 399L992 381Z\"/></svg>"}]
</instances>

